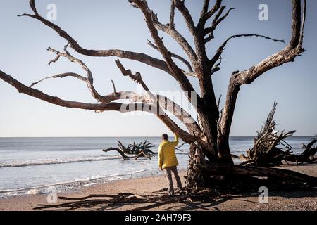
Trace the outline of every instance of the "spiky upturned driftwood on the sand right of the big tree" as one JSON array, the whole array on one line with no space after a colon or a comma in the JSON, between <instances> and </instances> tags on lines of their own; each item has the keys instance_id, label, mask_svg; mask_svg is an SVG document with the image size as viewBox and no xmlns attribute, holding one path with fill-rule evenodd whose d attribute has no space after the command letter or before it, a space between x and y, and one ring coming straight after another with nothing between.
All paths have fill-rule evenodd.
<instances>
[{"instance_id":1,"label":"spiky upturned driftwood on the sand right of the big tree","mask_svg":"<svg viewBox=\"0 0 317 225\"><path fill-rule=\"evenodd\" d=\"M256 166L275 166L282 165L285 162L314 162L314 155L317 148L312 148L316 140L311 141L307 146L303 144L304 152L301 155L292 154L292 146L285 139L292 136L296 131L275 131L275 120L273 120L277 103L274 103L273 109L268 114L266 123L254 139L254 147L247 150L247 155L240 155L244 160L240 165Z\"/></svg>"}]
</instances>

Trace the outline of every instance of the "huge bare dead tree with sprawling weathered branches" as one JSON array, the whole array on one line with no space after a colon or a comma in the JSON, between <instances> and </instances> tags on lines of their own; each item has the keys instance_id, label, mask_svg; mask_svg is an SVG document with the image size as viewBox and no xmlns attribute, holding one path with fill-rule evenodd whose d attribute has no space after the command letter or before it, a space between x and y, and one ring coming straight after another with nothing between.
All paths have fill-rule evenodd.
<instances>
[{"instance_id":1,"label":"huge bare dead tree with sprawling weathered branches","mask_svg":"<svg viewBox=\"0 0 317 225\"><path fill-rule=\"evenodd\" d=\"M39 98L43 101L60 105L68 108L81 108L85 110L94 110L97 112L116 110L126 112L129 110L142 110L149 113L154 113L159 119L166 124L166 126L178 134L180 138L190 143L191 153L189 160L189 170L187 176L187 186L189 188L201 188L198 184L207 184L209 178L215 172L216 165L228 166L232 170L243 171L244 167L234 166L229 147L230 127L232 124L232 117L235 112L235 103L237 96L242 86L251 84L258 77L263 75L268 70L276 68L285 63L293 62L294 58L304 52L304 25L306 18L306 0L292 0L292 37L286 46L274 53L271 56L263 59L261 62L252 65L247 70L232 72L229 80L228 92L225 99L225 106L220 110L216 93L213 89L213 75L220 70L222 62L222 53L228 43L233 39L240 37L259 37L267 39L268 41L284 42L283 40L273 39L262 34L236 34L228 37L223 41L216 53L213 56L208 56L206 53L206 45L213 43L215 38L214 32L221 25L223 20L228 17L233 8L226 11L226 6L223 6L222 0L216 0L216 4L210 6L209 0L204 0L203 8L200 13L198 23L194 23L192 15L189 13L185 1L172 0L170 4L170 22L168 24L161 23L158 15L149 8L146 0L128 0L132 6L137 8L145 18L145 23L149 29L149 33L153 39L153 43L149 44L154 47L163 59L151 57L145 53L124 51L120 49L95 50L85 49L73 37L70 36L62 27L46 20L37 11L35 0L30 0L30 8L32 14L24 13L20 16L34 18L43 23L46 27L54 30L60 37L65 39L68 44L64 51L57 51L49 48L51 53L56 54L56 58L50 63L56 63L59 58L65 57L70 62L78 63L86 73L86 76L78 75L73 72L66 72L59 75L54 75L48 78L63 78L75 77L87 84L92 96L97 103L82 103L75 101L66 101L56 96L45 94L34 86L25 86L18 80L14 79L6 72L0 71L0 78L11 84L20 93ZM302 7L302 3L304 6ZM178 10L184 18L188 27L189 33L194 39L194 46L189 44L187 39L178 32L174 23L175 10ZM171 53L166 48L166 44L159 36L159 31L168 34L173 38L184 51L186 57L178 56ZM151 67L157 68L172 76L180 85L180 89L184 91L187 99L194 106L197 111L197 121L189 115L180 105L173 102L169 98L153 94L147 84L144 83L139 72L131 72L126 70L119 60L116 64L124 76L130 77L133 81L141 84L147 94L137 94L132 91L116 91L114 88L111 94L102 95L94 88L94 79L91 70L82 62L82 60L75 58L68 51L68 46L79 54L92 57L109 57L114 56L118 58L125 58L135 60L140 63L147 64ZM188 70L183 70L176 63L175 59L180 60L180 63L185 63ZM196 91L189 82L188 77L195 77L199 81L200 91ZM39 81L42 82L43 80ZM114 85L113 85L114 86ZM132 103L118 103L117 100L129 98ZM167 114L166 111L173 113L180 122L185 124L187 130L181 129ZM213 167L214 166L214 167ZM214 169L211 169L213 167ZM245 169L247 174L248 169ZM259 172L259 170L256 170ZM256 176L253 172L250 176ZM241 173L240 173L241 174ZM261 176L265 175L265 171L259 173ZM229 174L223 174L222 176ZM274 176L271 171L270 175ZM276 172L275 176L280 177ZM285 172L285 179L293 179L294 176L289 176Z\"/></svg>"}]
</instances>

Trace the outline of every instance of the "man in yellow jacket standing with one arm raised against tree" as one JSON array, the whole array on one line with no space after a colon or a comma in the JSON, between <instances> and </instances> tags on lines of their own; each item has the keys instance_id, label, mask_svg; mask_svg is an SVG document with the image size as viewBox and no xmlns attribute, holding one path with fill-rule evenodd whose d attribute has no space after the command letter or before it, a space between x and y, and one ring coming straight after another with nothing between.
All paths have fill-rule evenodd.
<instances>
[{"instance_id":1,"label":"man in yellow jacket standing with one arm raised against tree","mask_svg":"<svg viewBox=\"0 0 317 225\"><path fill-rule=\"evenodd\" d=\"M180 176L178 176L178 159L175 155L175 147L178 145L178 136L175 135L175 141L168 141L168 135L162 134L162 142L159 146L159 167L164 170L166 179L168 180L168 194L174 194L172 172L176 179L178 189L182 190Z\"/></svg>"}]
</instances>

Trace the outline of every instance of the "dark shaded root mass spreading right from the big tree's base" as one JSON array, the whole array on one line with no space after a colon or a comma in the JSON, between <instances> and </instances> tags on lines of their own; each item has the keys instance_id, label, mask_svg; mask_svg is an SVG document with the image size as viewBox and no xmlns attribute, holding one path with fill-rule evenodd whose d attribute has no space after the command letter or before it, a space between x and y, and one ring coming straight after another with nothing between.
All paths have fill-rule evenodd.
<instances>
[{"instance_id":1,"label":"dark shaded root mass spreading right from the big tree's base","mask_svg":"<svg viewBox=\"0 0 317 225\"><path fill-rule=\"evenodd\" d=\"M317 188L316 177L287 169L216 163L194 165L187 173L186 181L186 189L189 192L210 188L222 193L243 193L257 191L261 186L275 191Z\"/></svg>"}]
</instances>

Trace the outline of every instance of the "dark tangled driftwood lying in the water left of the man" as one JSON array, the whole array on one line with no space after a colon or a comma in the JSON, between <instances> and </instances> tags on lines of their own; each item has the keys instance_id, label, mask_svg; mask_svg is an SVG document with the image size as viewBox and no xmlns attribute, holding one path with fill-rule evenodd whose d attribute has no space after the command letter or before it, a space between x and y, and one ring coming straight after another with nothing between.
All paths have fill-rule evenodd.
<instances>
[{"instance_id":1,"label":"dark tangled driftwood lying in the water left of the man","mask_svg":"<svg viewBox=\"0 0 317 225\"><path fill-rule=\"evenodd\" d=\"M118 148L111 147L102 151L107 153L108 151L116 150L118 153L120 153L124 160L129 160L130 158L135 158L135 160L137 160L140 157L151 160L152 156L157 155L157 153L151 150L151 148L154 146L155 145L147 141L147 139L140 143L133 142L132 144L128 144L128 146L124 146L123 143L118 141Z\"/></svg>"}]
</instances>

